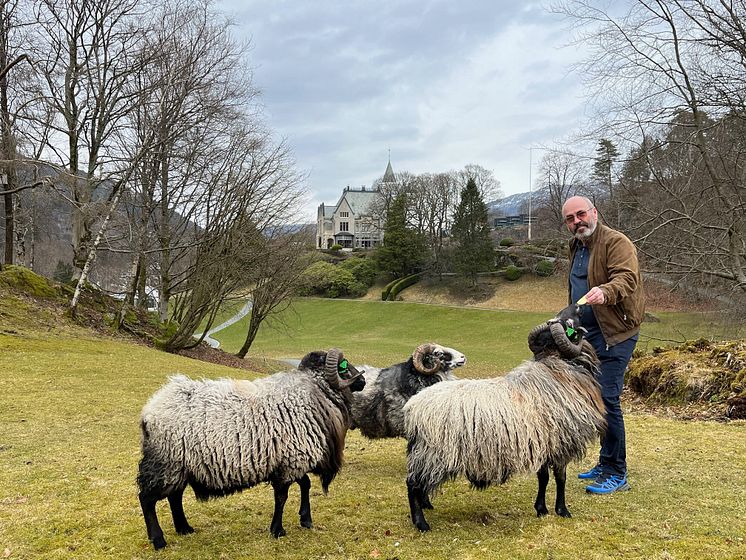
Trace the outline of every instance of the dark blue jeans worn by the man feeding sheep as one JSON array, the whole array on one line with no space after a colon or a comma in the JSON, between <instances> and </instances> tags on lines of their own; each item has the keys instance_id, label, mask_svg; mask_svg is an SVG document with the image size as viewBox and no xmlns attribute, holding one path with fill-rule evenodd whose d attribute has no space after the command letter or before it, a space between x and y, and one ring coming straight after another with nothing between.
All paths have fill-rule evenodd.
<instances>
[{"instance_id":1,"label":"dark blue jeans worn by the man feeding sheep","mask_svg":"<svg viewBox=\"0 0 746 560\"><path fill-rule=\"evenodd\" d=\"M601 438L601 453L598 464L604 474L627 474L627 447L625 442L624 418L622 416L621 395L624 385L624 371L637 344L637 335L606 348L601 331L589 332L587 337L601 360L601 396L606 405L606 435Z\"/></svg>"}]
</instances>

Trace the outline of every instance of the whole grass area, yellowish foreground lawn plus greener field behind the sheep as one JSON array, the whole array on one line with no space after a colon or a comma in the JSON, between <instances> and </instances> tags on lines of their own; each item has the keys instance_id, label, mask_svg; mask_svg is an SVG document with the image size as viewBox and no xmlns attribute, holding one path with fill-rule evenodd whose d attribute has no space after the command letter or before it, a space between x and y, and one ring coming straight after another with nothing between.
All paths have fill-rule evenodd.
<instances>
[{"instance_id":1,"label":"whole grass area, yellowish foreground lawn plus greener field behind the sheep","mask_svg":"<svg viewBox=\"0 0 746 560\"><path fill-rule=\"evenodd\" d=\"M97 338L62 323L35 330L34 321L24 320L27 310L15 309L0 301L0 558L746 556L746 423L641 414L627 415L633 490L586 495L571 468L572 519L534 516L531 476L485 492L459 480L434 499L436 509L428 513L433 531L420 535L408 518L405 443L371 442L351 432L347 464L328 496L314 479L314 529L298 525L297 487L286 507L288 535L280 540L268 535L270 488L262 485L208 503L188 494L185 509L197 532L175 535L161 503L169 546L155 553L134 483L142 405L176 371L196 377L251 374ZM355 361L385 365L433 339L467 353L470 363L461 375L482 376L527 357L527 329L546 318L544 313L306 300L288 319L288 332L261 333L257 351L300 356L339 345ZM656 332L665 334L673 323L707 330L697 316L674 315L670 322L656 324ZM240 339L239 330L232 336ZM224 343L231 340L226 336ZM552 499L553 489L550 484Z\"/></svg>"}]
</instances>

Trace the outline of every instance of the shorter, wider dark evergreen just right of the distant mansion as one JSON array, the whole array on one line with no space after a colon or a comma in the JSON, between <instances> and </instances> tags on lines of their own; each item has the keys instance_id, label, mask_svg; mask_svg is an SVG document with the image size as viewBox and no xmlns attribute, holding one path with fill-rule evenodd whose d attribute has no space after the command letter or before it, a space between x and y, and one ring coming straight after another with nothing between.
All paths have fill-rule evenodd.
<instances>
[{"instance_id":1,"label":"shorter, wider dark evergreen just right of the distant mansion","mask_svg":"<svg viewBox=\"0 0 746 560\"><path fill-rule=\"evenodd\" d=\"M386 213L383 246L376 251L380 270L403 277L422 269L427 262L427 245L422 234L407 225L407 195L399 193Z\"/></svg>"}]
</instances>

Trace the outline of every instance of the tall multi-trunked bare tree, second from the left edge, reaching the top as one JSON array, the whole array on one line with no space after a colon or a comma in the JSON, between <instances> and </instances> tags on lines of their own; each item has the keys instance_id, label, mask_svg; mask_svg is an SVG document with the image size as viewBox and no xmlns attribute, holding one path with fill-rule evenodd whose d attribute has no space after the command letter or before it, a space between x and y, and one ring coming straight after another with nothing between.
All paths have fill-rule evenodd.
<instances>
[{"instance_id":1,"label":"tall multi-trunked bare tree, second from the left edge, reaching the top","mask_svg":"<svg viewBox=\"0 0 746 560\"><path fill-rule=\"evenodd\" d=\"M139 0L39 0L30 40L42 75L40 95L54 116L44 157L68 171L73 204L73 263L90 254L93 228L105 210L94 193L128 167L116 136L131 109L128 82L144 16ZM104 192L103 197L110 195ZM101 196L97 195L100 199Z\"/></svg>"}]
</instances>

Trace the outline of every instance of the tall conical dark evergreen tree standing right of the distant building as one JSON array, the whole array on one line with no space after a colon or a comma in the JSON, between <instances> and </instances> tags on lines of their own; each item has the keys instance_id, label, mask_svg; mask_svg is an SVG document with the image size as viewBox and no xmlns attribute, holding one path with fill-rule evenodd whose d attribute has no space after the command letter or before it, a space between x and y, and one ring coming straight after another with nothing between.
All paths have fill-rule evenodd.
<instances>
[{"instance_id":1,"label":"tall conical dark evergreen tree standing right of the distant building","mask_svg":"<svg viewBox=\"0 0 746 560\"><path fill-rule=\"evenodd\" d=\"M457 243L454 254L456 272L469 278L476 286L477 273L493 267L495 251L490 238L487 205L473 179L469 179L461 191L452 235Z\"/></svg>"}]
</instances>

